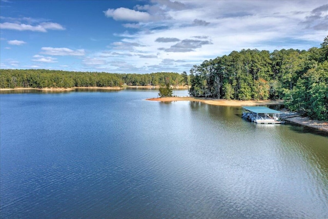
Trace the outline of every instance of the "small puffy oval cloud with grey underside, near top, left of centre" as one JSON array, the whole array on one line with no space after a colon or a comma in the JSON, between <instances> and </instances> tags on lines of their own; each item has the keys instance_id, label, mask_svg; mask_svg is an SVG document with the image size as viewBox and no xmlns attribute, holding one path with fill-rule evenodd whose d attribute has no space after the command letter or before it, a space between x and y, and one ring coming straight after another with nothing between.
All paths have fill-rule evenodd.
<instances>
[{"instance_id":1,"label":"small puffy oval cloud with grey underside, near top, left of centre","mask_svg":"<svg viewBox=\"0 0 328 219\"><path fill-rule=\"evenodd\" d=\"M113 17L115 21L146 22L150 19L149 13L129 8L108 9L104 13L107 17Z\"/></svg>"}]
</instances>

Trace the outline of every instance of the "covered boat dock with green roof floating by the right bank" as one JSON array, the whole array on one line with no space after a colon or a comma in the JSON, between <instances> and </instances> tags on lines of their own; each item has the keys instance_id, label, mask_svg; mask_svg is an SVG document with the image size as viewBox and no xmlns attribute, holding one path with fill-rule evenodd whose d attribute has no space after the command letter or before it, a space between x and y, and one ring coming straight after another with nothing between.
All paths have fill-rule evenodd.
<instances>
[{"instance_id":1,"label":"covered boat dock with green roof floating by the right bank","mask_svg":"<svg viewBox=\"0 0 328 219\"><path fill-rule=\"evenodd\" d=\"M244 112L241 117L248 118L249 121L258 124L283 124L284 118L280 111L268 107L242 107Z\"/></svg>"}]
</instances>

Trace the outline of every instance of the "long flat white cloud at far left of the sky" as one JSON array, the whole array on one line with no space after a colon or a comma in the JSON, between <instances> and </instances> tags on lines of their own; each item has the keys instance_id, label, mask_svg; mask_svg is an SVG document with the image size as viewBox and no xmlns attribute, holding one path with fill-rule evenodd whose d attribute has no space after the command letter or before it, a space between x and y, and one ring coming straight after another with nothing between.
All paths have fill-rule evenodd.
<instances>
[{"instance_id":1,"label":"long flat white cloud at far left of the sky","mask_svg":"<svg viewBox=\"0 0 328 219\"><path fill-rule=\"evenodd\" d=\"M63 26L52 22L43 22L39 25L33 26L30 24L17 24L17 23L1 23L0 29L19 30L19 31L36 31L36 32L47 32L47 30L65 30Z\"/></svg>"}]
</instances>

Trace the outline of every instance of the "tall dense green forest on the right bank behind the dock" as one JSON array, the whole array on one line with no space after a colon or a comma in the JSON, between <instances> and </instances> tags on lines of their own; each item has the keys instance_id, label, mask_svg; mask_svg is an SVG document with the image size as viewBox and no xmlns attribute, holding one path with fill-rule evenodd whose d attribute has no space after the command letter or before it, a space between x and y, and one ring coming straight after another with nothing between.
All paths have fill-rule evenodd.
<instances>
[{"instance_id":1,"label":"tall dense green forest on the right bank behind the dock","mask_svg":"<svg viewBox=\"0 0 328 219\"><path fill-rule=\"evenodd\" d=\"M328 36L308 51L233 51L194 65L191 96L226 99L285 99L286 106L328 119Z\"/></svg>"}]
</instances>

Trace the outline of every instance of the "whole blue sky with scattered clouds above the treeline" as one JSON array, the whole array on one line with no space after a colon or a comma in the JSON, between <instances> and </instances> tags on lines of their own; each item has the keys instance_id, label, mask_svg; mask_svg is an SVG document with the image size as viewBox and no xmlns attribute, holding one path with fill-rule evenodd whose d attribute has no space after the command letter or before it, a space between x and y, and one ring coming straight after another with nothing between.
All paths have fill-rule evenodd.
<instances>
[{"instance_id":1,"label":"whole blue sky with scattered clouds above the treeline","mask_svg":"<svg viewBox=\"0 0 328 219\"><path fill-rule=\"evenodd\" d=\"M1 69L189 72L241 49L320 47L326 1L0 0Z\"/></svg>"}]
</instances>

